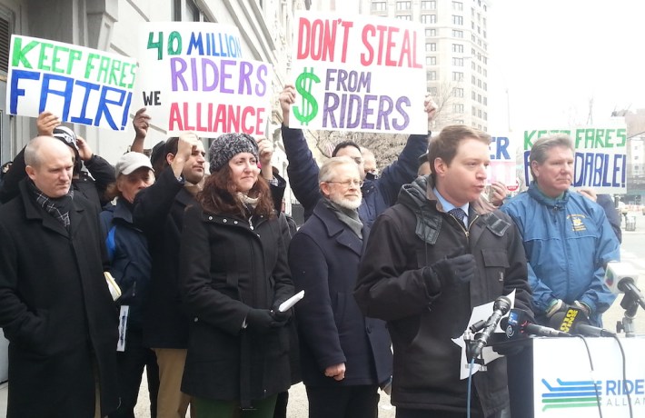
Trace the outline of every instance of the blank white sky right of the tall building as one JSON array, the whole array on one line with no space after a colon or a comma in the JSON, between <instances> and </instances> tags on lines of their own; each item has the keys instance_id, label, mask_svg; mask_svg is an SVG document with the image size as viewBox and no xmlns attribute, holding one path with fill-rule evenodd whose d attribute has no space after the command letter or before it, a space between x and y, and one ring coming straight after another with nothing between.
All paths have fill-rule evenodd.
<instances>
[{"instance_id":1,"label":"blank white sky right of the tall building","mask_svg":"<svg viewBox=\"0 0 645 418\"><path fill-rule=\"evenodd\" d=\"M492 0L488 29L489 133L645 108L645 1Z\"/></svg>"}]
</instances>

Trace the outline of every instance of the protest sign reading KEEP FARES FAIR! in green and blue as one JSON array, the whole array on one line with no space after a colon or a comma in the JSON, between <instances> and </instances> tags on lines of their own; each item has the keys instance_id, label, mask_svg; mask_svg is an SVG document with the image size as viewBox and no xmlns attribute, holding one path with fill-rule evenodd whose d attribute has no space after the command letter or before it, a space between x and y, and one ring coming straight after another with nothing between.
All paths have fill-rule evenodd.
<instances>
[{"instance_id":1,"label":"protest sign reading KEEP FARES FAIR! in green and blue","mask_svg":"<svg viewBox=\"0 0 645 418\"><path fill-rule=\"evenodd\" d=\"M12 35L6 108L9 114L48 111L61 122L123 131L135 75L136 62L126 56Z\"/></svg>"}]
</instances>

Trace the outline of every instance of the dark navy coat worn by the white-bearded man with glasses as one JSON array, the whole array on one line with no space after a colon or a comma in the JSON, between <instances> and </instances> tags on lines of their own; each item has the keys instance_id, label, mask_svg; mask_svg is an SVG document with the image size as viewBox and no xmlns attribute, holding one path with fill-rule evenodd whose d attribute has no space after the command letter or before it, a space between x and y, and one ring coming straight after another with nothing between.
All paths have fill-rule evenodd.
<instances>
[{"instance_id":1,"label":"dark navy coat worn by the white-bearded man with glasses","mask_svg":"<svg viewBox=\"0 0 645 418\"><path fill-rule=\"evenodd\" d=\"M365 318L352 293L363 242L323 203L293 236L289 266L296 292L303 381L308 386L376 385L392 376L392 350L385 323ZM324 375L345 363L345 378Z\"/></svg>"}]
</instances>

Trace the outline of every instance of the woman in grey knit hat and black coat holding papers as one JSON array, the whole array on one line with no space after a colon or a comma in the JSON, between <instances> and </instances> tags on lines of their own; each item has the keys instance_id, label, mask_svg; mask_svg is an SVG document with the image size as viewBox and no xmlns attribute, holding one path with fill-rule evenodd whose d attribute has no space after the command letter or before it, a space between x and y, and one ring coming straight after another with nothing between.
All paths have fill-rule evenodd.
<instances>
[{"instance_id":1,"label":"woman in grey knit hat and black coat holding papers","mask_svg":"<svg viewBox=\"0 0 645 418\"><path fill-rule=\"evenodd\" d=\"M223 134L209 159L202 207L187 209L182 234L183 301L193 317L182 391L200 418L240 410L270 418L291 377L291 311L278 310L293 295L282 225L253 137Z\"/></svg>"}]
</instances>

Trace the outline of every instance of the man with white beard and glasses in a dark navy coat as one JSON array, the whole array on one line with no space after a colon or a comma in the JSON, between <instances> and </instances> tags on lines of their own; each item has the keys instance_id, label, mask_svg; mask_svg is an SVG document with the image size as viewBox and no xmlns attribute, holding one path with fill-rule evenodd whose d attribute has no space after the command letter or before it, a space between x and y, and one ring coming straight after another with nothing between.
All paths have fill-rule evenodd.
<instances>
[{"instance_id":1,"label":"man with white beard and glasses in a dark navy coat","mask_svg":"<svg viewBox=\"0 0 645 418\"><path fill-rule=\"evenodd\" d=\"M390 336L365 318L352 297L369 234L357 208L362 176L349 157L327 160L318 175L322 199L289 246L296 291L303 383L309 417L373 418L380 384L390 382Z\"/></svg>"}]
</instances>

